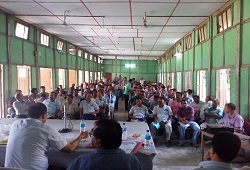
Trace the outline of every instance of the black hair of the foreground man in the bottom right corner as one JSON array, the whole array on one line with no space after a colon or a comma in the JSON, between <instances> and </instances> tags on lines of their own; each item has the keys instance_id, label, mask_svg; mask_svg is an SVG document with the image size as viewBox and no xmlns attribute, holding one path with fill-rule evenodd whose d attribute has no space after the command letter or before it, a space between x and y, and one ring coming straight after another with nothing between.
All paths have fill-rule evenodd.
<instances>
[{"instance_id":1,"label":"black hair of the foreground man in the bottom right corner","mask_svg":"<svg viewBox=\"0 0 250 170\"><path fill-rule=\"evenodd\" d=\"M241 147L240 138L230 132L217 132L212 139L213 151L224 162L232 162Z\"/></svg>"}]
</instances>

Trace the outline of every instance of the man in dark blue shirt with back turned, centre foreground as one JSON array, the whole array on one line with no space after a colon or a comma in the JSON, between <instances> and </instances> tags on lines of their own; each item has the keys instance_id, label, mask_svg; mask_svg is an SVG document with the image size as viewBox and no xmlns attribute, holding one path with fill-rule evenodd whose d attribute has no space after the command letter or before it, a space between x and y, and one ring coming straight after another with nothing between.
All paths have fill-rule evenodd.
<instances>
[{"instance_id":1,"label":"man in dark blue shirt with back turned, centre foreground","mask_svg":"<svg viewBox=\"0 0 250 170\"><path fill-rule=\"evenodd\" d=\"M91 143L95 150L76 158L68 170L140 170L138 159L119 149L122 129L115 120L98 120L93 128Z\"/></svg>"}]
</instances>

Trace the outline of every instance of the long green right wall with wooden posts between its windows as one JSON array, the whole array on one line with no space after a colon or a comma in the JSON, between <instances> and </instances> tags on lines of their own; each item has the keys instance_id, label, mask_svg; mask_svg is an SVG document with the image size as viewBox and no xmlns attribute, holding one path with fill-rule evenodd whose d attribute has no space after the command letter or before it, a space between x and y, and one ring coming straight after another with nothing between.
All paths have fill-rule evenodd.
<instances>
[{"instance_id":1,"label":"long green right wall with wooden posts between its windows","mask_svg":"<svg viewBox=\"0 0 250 170\"><path fill-rule=\"evenodd\" d=\"M165 62L158 62L158 67L165 64L166 70L158 69L160 75L170 72L191 71L192 89L197 90L197 71L206 70L207 95L216 96L216 71L230 69L230 102L237 106L237 111L249 119L250 109L250 1L230 1L233 6L233 25L227 30L217 33L216 14L207 19L207 40L198 43L198 30L194 29L192 35L192 48L186 50L183 45L182 57L172 57L175 51L166 52ZM230 5L228 2L227 5ZM225 7L225 6L224 6ZM210 28L211 26L211 28ZM180 40L185 44L184 38ZM161 61L161 58L159 58ZM171 63L171 64L169 64ZM157 76L160 77L160 76ZM175 87L177 78L175 79ZM182 91L186 90L182 81Z\"/></svg>"}]
</instances>

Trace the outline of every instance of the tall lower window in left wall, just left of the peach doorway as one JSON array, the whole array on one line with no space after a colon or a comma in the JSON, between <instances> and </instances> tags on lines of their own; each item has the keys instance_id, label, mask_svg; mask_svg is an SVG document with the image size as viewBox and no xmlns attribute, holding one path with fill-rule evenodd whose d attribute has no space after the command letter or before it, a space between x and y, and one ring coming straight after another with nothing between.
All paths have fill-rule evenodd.
<instances>
[{"instance_id":1,"label":"tall lower window in left wall, just left of the peach doorway","mask_svg":"<svg viewBox=\"0 0 250 170\"><path fill-rule=\"evenodd\" d=\"M22 90L23 95L30 94L30 67L17 66L17 88Z\"/></svg>"}]
</instances>

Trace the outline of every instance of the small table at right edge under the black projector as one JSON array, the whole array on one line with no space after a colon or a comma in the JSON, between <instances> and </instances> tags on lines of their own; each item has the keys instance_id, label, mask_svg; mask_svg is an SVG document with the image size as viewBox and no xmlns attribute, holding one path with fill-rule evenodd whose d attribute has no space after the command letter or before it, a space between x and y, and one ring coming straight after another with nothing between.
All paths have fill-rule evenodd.
<instances>
[{"instance_id":1,"label":"small table at right edge under the black projector","mask_svg":"<svg viewBox=\"0 0 250 170\"><path fill-rule=\"evenodd\" d=\"M241 148L246 149L246 150L250 150L250 143L249 143L250 137L247 135L236 133L236 132L234 132L234 134L239 136L239 138L241 140ZM209 133L208 131L205 131L205 130L201 130L201 161L204 160L205 137L213 138L214 134Z\"/></svg>"}]
</instances>

